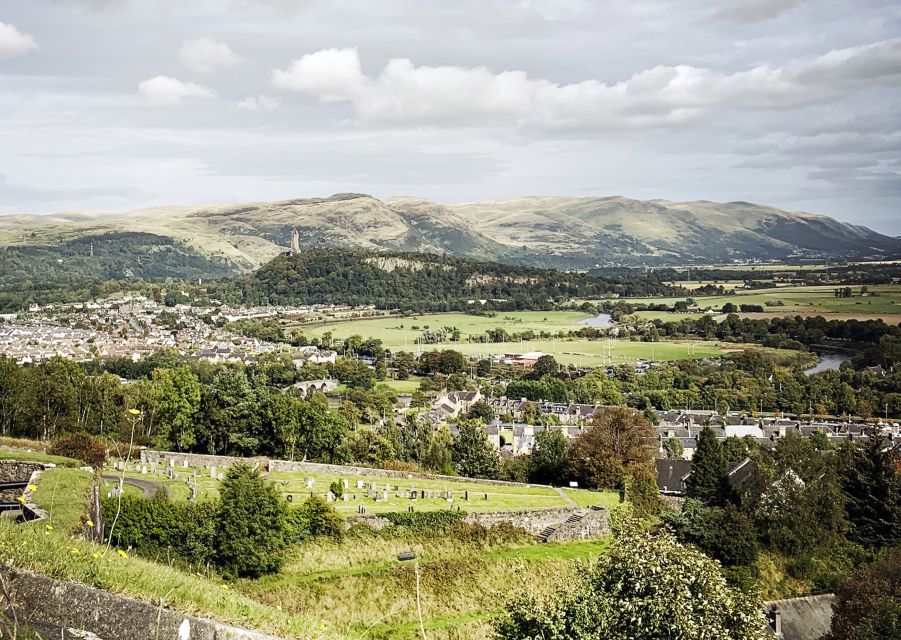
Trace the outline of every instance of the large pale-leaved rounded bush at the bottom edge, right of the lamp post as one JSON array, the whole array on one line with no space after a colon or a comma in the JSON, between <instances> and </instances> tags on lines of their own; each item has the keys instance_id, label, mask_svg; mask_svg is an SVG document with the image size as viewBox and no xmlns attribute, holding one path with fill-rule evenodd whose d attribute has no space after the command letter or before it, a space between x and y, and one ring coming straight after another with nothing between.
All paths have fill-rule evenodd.
<instances>
[{"instance_id":1,"label":"large pale-leaved rounded bush at the bottom edge, right of the lamp post","mask_svg":"<svg viewBox=\"0 0 901 640\"><path fill-rule=\"evenodd\" d=\"M495 628L500 640L762 640L763 627L760 603L731 588L716 562L633 522L597 564L520 597Z\"/></svg>"}]
</instances>

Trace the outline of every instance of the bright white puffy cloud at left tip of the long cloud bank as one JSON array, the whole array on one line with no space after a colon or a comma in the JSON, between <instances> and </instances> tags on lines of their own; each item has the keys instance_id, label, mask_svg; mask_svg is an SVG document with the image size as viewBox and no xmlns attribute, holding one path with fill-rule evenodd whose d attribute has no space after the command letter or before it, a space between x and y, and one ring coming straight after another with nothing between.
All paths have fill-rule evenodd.
<instances>
[{"instance_id":1,"label":"bright white puffy cloud at left tip of the long cloud bank","mask_svg":"<svg viewBox=\"0 0 901 640\"><path fill-rule=\"evenodd\" d=\"M308 53L292 62L286 71L272 72L275 87L311 93L326 102L353 98L366 82L356 49Z\"/></svg>"}]
</instances>

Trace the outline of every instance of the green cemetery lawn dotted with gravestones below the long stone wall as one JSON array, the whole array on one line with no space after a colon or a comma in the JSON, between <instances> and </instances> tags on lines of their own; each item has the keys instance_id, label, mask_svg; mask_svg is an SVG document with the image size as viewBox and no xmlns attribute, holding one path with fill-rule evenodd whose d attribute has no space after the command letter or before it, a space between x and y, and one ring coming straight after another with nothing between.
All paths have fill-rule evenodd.
<instances>
[{"instance_id":1,"label":"green cemetery lawn dotted with gravestones below the long stone wall","mask_svg":"<svg viewBox=\"0 0 901 640\"><path fill-rule=\"evenodd\" d=\"M190 490L186 480L189 478L196 478L198 499L202 500L218 495L219 481L210 477L209 470L178 467L173 471L174 479L150 473L149 469L147 474L129 471L125 475L128 479L152 482L165 487L169 497L173 500L188 499ZM118 474L118 472L108 470L105 475L110 474ZM360 506L366 509L366 513L384 513L406 511L411 506L416 511L439 511L458 507L463 511L515 511L537 507L571 507L574 506L574 503L582 507L599 505L608 508L619 504L619 495L614 491L567 489L564 493L563 490L558 491L551 487L526 484L494 485L466 478L453 480L383 478L375 474L358 475L351 468L348 468L347 472L342 475L271 472L266 474L266 477L278 487L286 500L290 496L292 503L295 504L300 504L310 494L325 497L333 482L346 479L348 484L348 488L345 490L347 500L339 499L333 503L335 510L343 515L357 513ZM308 480L312 481L312 486L307 486ZM358 483L362 483L363 486L358 487ZM373 484L375 490L371 492L370 488ZM109 493L113 486L115 486L114 481L106 481L103 488L105 494ZM410 499L410 491L413 489L419 492L416 500ZM125 491L139 495L138 489L129 486L127 482ZM427 497L421 497L422 491L427 493ZM375 492L383 494L382 497L387 494L387 499L376 500ZM429 492L431 492L431 496L428 496ZM468 500L466 499L467 492Z\"/></svg>"}]
</instances>

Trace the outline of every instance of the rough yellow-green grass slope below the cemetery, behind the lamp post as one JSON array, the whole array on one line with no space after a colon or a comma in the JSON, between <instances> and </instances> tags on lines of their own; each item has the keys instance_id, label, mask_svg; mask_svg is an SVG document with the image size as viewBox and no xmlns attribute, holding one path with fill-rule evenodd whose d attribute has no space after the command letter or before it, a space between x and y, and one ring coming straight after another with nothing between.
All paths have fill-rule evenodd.
<instances>
[{"instance_id":1,"label":"rough yellow-green grass slope below the cemetery, behind the lamp post","mask_svg":"<svg viewBox=\"0 0 901 640\"><path fill-rule=\"evenodd\" d=\"M575 562L597 559L607 545L606 539L536 544L452 535L319 541L300 546L279 575L239 588L285 611L321 615L348 637L414 640L421 637L415 568L397 560L399 552L413 551L429 639L486 640L492 619L522 590L551 588Z\"/></svg>"}]
</instances>

